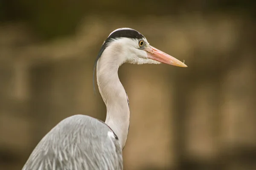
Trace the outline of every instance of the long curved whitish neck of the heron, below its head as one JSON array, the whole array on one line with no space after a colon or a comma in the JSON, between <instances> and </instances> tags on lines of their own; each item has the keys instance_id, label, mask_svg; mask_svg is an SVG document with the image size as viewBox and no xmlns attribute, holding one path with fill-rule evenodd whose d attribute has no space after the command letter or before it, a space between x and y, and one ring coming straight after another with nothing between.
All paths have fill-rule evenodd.
<instances>
[{"instance_id":1,"label":"long curved whitish neck of the heron, below its head","mask_svg":"<svg viewBox=\"0 0 256 170\"><path fill-rule=\"evenodd\" d=\"M107 107L105 123L111 127L123 148L128 136L130 110L127 96L118 77L118 68L123 63L118 51L106 48L97 62L99 92ZM122 53L121 53L122 54Z\"/></svg>"}]
</instances>

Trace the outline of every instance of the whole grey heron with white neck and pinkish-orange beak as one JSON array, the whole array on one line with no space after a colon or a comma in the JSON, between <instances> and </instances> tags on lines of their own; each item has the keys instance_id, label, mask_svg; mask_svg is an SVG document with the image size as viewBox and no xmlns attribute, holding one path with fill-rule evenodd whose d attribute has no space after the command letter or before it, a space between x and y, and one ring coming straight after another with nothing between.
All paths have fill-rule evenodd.
<instances>
[{"instance_id":1,"label":"whole grey heron with white neck and pinkish-orange beak","mask_svg":"<svg viewBox=\"0 0 256 170\"><path fill-rule=\"evenodd\" d=\"M105 122L81 114L63 119L41 139L22 170L123 169L122 151L130 124L128 96L118 77L118 69L124 63L187 67L149 45L132 28L112 31L103 42L94 66L107 108Z\"/></svg>"}]
</instances>

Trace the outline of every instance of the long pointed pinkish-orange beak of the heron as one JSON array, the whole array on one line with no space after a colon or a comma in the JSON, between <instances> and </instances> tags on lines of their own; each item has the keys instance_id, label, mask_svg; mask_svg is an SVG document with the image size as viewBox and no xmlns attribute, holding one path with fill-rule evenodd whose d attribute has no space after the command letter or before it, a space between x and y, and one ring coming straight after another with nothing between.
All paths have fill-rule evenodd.
<instances>
[{"instance_id":1,"label":"long pointed pinkish-orange beak of the heron","mask_svg":"<svg viewBox=\"0 0 256 170\"><path fill-rule=\"evenodd\" d=\"M178 67L187 67L187 65L180 60L170 56L169 54L164 53L163 51L158 50L157 48L152 47L151 45L145 47L144 50L147 52L148 58L150 59L154 59L158 62L166 63L169 65L175 65Z\"/></svg>"}]
</instances>

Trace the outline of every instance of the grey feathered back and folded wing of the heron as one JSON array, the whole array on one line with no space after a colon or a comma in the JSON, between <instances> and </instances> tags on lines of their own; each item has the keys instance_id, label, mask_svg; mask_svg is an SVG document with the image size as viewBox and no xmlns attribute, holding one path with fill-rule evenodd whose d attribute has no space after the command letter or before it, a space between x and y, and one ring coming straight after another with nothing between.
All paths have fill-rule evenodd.
<instances>
[{"instance_id":1,"label":"grey feathered back and folded wing of the heron","mask_svg":"<svg viewBox=\"0 0 256 170\"><path fill-rule=\"evenodd\" d=\"M90 116L74 115L44 136L22 170L122 169L122 149L110 127Z\"/></svg>"}]
</instances>

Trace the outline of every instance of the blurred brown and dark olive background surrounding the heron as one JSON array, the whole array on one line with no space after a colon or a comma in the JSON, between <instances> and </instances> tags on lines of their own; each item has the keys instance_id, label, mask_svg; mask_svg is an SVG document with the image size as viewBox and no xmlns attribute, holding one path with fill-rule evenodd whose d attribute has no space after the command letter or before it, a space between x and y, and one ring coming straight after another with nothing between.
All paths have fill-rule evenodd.
<instances>
[{"instance_id":1,"label":"blurred brown and dark olive background surrounding the heron","mask_svg":"<svg viewBox=\"0 0 256 170\"><path fill-rule=\"evenodd\" d=\"M188 68L130 65L125 170L256 170L255 1L1 0L0 170L73 114L105 120L93 64L130 27Z\"/></svg>"}]
</instances>

